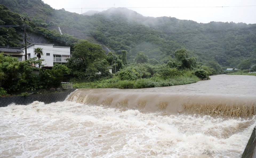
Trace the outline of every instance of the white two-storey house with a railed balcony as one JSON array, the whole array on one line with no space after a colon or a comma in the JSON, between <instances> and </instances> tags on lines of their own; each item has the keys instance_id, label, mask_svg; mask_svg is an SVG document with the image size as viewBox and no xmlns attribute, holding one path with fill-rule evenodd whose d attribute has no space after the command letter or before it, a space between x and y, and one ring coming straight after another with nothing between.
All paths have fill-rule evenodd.
<instances>
[{"instance_id":1,"label":"white two-storey house with a railed balcony","mask_svg":"<svg viewBox=\"0 0 256 158\"><path fill-rule=\"evenodd\" d=\"M27 46L27 59L37 57L34 50L35 48L43 48L43 55L40 59L44 59L42 62L43 67L52 67L54 63L67 63L67 58L70 58L70 47L53 46L53 44L30 44ZM23 56L22 60L25 60L25 48L22 48Z\"/></svg>"}]
</instances>

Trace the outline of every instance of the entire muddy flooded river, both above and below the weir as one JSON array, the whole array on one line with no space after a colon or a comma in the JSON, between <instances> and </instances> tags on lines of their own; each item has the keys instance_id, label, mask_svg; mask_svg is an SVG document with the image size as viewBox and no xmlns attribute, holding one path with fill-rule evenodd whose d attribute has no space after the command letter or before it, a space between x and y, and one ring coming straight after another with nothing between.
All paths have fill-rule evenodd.
<instances>
[{"instance_id":1,"label":"entire muddy flooded river, both above and below the weir","mask_svg":"<svg viewBox=\"0 0 256 158\"><path fill-rule=\"evenodd\" d=\"M0 158L239 158L255 126L256 77L136 90L79 89L0 108Z\"/></svg>"}]
</instances>

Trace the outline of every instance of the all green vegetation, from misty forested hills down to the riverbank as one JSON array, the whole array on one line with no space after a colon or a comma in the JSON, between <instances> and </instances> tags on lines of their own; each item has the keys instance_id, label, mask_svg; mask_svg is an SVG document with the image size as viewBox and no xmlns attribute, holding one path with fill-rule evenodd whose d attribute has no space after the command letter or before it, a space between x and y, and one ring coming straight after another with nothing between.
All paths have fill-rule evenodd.
<instances>
[{"instance_id":1,"label":"all green vegetation, from misty forested hills down to the riverbank","mask_svg":"<svg viewBox=\"0 0 256 158\"><path fill-rule=\"evenodd\" d=\"M224 73L223 67L248 70L256 64L256 24L143 17L126 8L84 16L55 10L41 0L0 0L0 4L0 25L17 25L0 27L1 46L24 46L20 17L26 16L31 19L26 21L27 35L33 37L27 37L28 43L44 38L70 46L72 55L67 67L39 69L39 75L32 65L40 67L43 50L35 50L39 60L20 63L0 56L1 94L59 86L69 72L75 81L86 80L74 84L77 88L145 88L193 83Z\"/></svg>"}]
</instances>

